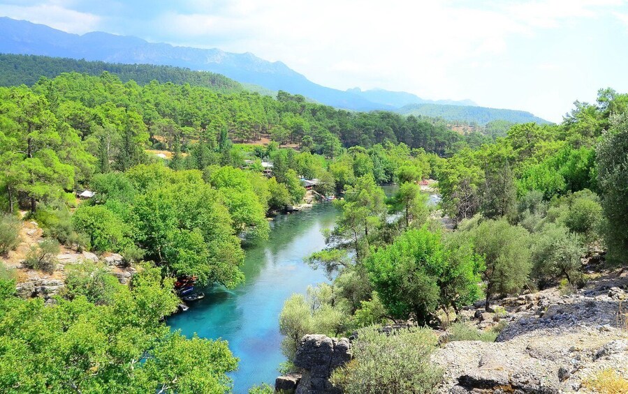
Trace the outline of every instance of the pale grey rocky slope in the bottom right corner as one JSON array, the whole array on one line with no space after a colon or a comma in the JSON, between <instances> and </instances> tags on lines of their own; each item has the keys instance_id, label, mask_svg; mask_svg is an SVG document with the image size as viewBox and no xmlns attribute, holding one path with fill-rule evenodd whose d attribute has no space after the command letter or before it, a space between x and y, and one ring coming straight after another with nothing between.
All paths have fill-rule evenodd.
<instances>
[{"instance_id":1,"label":"pale grey rocky slope in the bottom right corner","mask_svg":"<svg viewBox=\"0 0 628 394\"><path fill-rule=\"evenodd\" d=\"M620 304L627 288L628 275L613 273L576 294L548 289L507 298L499 315L508 326L497 342L448 342L432 354L444 370L439 393L586 392L583 381L600 370L628 373L628 315ZM464 313L476 326L498 320L483 308L474 318L474 308Z\"/></svg>"}]
</instances>

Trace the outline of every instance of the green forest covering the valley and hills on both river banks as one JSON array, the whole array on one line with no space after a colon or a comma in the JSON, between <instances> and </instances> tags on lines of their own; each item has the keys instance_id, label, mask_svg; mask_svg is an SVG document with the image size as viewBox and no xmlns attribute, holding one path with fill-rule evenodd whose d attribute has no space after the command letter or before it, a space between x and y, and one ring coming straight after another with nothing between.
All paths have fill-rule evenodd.
<instances>
[{"instance_id":1,"label":"green forest covering the valley and hills on both river banks","mask_svg":"<svg viewBox=\"0 0 628 394\"><path fill-rule=\"evenodd\" d=\"M163 323L177 308L173 283L192 275L242 282L242 240L268 238L267 215L302 202L302 178L343 198L328 248L307 261L332 282L292 296L279 317L289 361L307 333L346 335L410 317L437 327L481 298L488 308L524 287L578 287L580 256L593 248L625 264L628 95L603 89L560 125L516 124L486 137L281 91L219 89L142 86L108 72L0 88L0 252L15 248L22 211L45 234L29 268L52 271L59 245L119 252L141 268L129 286L98 264L68 269L52 306L14 296L15 273L2 269L1 388L229 391L237 360L228 344L184 338ZM273 163L270 176L262 162ZM418 181L428 178L455 231L426 206ZM399 185L392 197L381 189L389 183ZM86 188L96 194L77 202ZM333 380L347 393L360 392L364 376L390 384L393 375L368 370L373 354ZM387 365L416 372L414 387L438 378L418 359Z\"/></svg>"}]
</instances>

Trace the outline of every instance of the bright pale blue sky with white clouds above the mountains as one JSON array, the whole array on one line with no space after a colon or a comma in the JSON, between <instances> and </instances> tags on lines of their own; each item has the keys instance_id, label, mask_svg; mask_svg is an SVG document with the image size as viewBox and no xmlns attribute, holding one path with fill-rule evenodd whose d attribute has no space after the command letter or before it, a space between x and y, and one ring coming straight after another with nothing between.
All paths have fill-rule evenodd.
<instances>
[{"instance_id":1,"label":"bright pale blue sky with white clouds above the mountains","mask_svg":"<svg viewBox=\"0 0 628 394\"><path fill-rule=\"evenodd\" d=\"M628 0L0 0L69 33L251 52L336 89L469 98L559 122L628 92Z\"/></svg>"}]
</instances>

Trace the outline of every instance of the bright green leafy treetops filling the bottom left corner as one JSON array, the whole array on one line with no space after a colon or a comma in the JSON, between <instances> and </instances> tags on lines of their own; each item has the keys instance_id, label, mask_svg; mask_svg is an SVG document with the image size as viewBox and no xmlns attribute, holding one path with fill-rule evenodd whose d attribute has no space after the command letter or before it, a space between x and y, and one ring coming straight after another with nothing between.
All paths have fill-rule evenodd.
<instances>
[{"instance_id":1,"label":"bright green leafy treetops filling the bottom left corner","mask_svg":"<svg viewBox=\"0 0 628 394\"><path fill-rule=\"evenodd\" d=\"M177 308L173 282L146 266L107 305L85 296L0 298L0 386L10 393L224 393L237 359L226 342L187 340L161 319Z\"/></svg>"}]
</instances>

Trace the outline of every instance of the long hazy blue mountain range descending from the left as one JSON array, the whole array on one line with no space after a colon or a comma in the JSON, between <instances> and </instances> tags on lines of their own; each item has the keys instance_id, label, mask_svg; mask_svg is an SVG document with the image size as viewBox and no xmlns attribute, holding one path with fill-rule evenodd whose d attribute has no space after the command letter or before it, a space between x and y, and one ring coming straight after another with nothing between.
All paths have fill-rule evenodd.
<instances>
[{"instance_id":1,"label":"long hazy blue mountain range descending from the left","mask_svg":"<svg viewBox=\"0 0 628 394\"><path fill-rule=\"evenodd\" d=\"M281 61L265 61L254 54L235 54L149 43L130 36L93 32L82 36L43 24L0 17L0 53L34 54L108 63L153 64L211 71L241 82L256 91L288 91L333 107L370 111L395 110L405 105L474 106L470 100L424 100L411 93L373 89L331 89L309 81ZM70 71L70 70L68 70ZM262 86L257 89L251 84ZM265 90L268 89L268 90ZM481 107L477 107L481 108ZM507 111L507 110L504 110ZM535 121L530 114L527 121ZM538 118L536 118L538 119ZM460 119L465 120L465 119Z\"/></svg>"}]
</instances>

